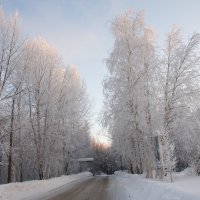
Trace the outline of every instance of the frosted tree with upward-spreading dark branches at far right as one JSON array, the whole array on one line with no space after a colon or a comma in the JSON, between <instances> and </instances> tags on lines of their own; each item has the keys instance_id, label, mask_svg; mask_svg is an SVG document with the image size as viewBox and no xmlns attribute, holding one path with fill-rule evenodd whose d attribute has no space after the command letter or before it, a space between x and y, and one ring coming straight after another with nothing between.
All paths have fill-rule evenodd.
<instances>
[{"instance_id":1,"label":"frosted tree with upward-spreading dark branches at far right","mask_svg":"<svg viewBox=\"0 0 200 200\"><path fill-rule=\"evenodd\" d=\"M181 139L177 124L185 123L183 115L188 115L193 107L191 99L199 95L199 34L193 34L184 41L180 30L173 28L168 34L161 65L161 84L163 86L163 157L175 157L175 143ZM182 120L182 121L181 121ZM191 135L192 137L192 135ZM189 145L189 144L188 144ZM174 150L173 150L174 149ZM173 152L174 151L174 152ZM171 166L174 166L173 159ZM170 171L170 163L163 162L164 170Z\"/></svg>"}]
</instances>

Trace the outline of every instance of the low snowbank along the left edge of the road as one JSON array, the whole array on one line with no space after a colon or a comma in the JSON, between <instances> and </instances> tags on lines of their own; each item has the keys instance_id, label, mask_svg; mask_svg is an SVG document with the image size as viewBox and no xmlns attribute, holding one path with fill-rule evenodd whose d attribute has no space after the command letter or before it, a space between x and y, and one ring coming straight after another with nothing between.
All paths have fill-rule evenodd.
<instances>
[{"instance_id":1,"label":"low snowbank along the left edge of the road","mask_svg":"<svg viewBox=\"0 0 200 200\"><path fill-rule=\"evenodd\" d=\"M90 172L83 172L48 180L33 180L0 185L0 200L21 200L35 194L49 192L67 183L89 176L92 176Z\"/></svg>"}]
</instances>

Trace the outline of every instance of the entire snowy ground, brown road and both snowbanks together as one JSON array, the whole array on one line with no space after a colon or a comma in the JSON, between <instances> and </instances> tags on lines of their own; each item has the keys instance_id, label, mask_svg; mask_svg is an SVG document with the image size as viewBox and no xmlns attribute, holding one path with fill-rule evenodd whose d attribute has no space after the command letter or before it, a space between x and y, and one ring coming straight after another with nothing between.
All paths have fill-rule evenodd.
<instances>
[{"instance_id":1,"label":"entire snowy ground, brown road and both snowbanks together","mask_svg":"<svg viewBox=\"0 0 200 200\"><path fill-rule=\"evenodd\" d=\"M200 177L174 173L174 182L144 175L91 173L0 185L0 200L200 200Z\"/></svg>"}]
</instances>

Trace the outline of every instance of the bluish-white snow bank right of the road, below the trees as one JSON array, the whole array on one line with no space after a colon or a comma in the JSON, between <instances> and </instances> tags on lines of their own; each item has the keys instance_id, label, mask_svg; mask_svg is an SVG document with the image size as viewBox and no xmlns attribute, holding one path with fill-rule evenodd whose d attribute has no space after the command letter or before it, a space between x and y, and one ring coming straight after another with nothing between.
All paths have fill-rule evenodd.
<instances>
[{"instance_id":1,"label":"bluish-white snow bank right of the road, below the trees","mask_svg":"<svg viewBox=\"0 0 200 200\"><path fill-rule=\"evenodd\" d=\"M114 182L125 191L123 199L133 200L200 200L200 177L182 176L174 183L148 180L142 175L116 173ZM120 191L119 195L120 195Z\"/></svg>"}]
</instances>

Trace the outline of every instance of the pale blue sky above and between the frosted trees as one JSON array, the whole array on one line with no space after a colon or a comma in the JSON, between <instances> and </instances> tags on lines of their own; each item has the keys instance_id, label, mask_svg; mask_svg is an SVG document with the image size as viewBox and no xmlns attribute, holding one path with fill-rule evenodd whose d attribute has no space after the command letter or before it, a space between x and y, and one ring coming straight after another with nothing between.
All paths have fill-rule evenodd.
<instances>
[{"instance_id":1,"label":"pale blue sky above and between the frosted trees","mask_svg":"<svg viewBox=\"0 0 200 200\"><path fill-rule=\"evenodd\" d=\"M1 0L7 14L19 11L22 31L54 45L87 84L93 119L101 110L105 62L112 50L110 21L127 9L145 10L159 41L175 24L186 34L200 32L199 0ZM93 131L98 131L93 120Z\"/></svg>"}]
</instances>

